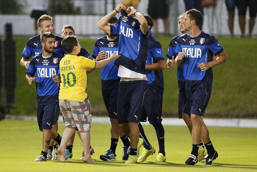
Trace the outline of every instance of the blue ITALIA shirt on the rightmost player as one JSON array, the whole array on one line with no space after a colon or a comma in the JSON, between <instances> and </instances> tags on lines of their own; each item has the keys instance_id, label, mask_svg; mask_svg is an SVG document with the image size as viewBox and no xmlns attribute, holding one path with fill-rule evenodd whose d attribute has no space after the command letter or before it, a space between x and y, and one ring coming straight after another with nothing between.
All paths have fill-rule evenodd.
<instances>
[{"instance_id":1,"label":"blue ITALIA shirt on the rightmost player","mask_svg":"<svg viewBox=\"0 0 257 172\"><path fill-rule=\"evenodd\" d=\"M190 33L178 36L176 55L185 52L183 58L183 75L186 80L187 90L211 89L212 88L212 68L201 71L197 68L198 63L210 62L213 54L216 56L223 51L222 46L215 37L208 33L201 32L197 37L190 37Z\"/></svg>"}]
</instances>

